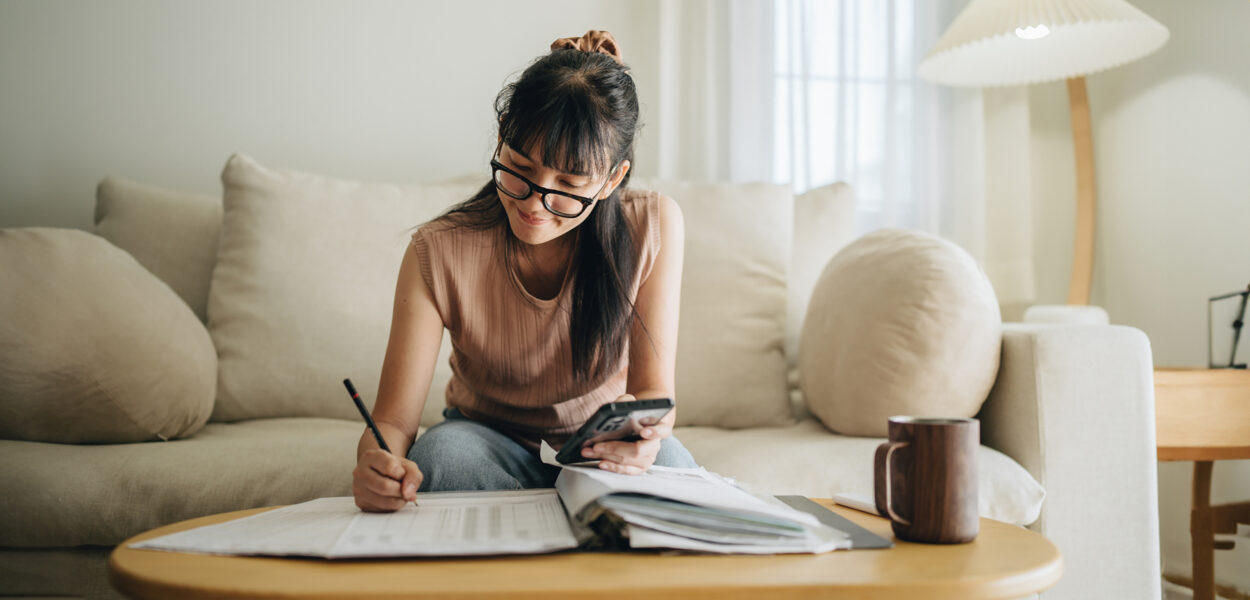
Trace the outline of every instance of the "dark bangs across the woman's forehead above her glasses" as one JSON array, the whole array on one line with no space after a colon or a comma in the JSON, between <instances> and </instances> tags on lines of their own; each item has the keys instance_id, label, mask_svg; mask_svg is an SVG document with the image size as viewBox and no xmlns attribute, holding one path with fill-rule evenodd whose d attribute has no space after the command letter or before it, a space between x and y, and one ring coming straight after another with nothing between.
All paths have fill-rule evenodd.
<instances>
[{"instance_id":1,"label":"dark bangs across the woman's forehead above her glasses","mask_svg":"<svg viewBox=\"0 0 1250 600\"><path fill-rule=\"evenodd\" d=\"M602 122L600 108L578 89L581 86L576 80L546 88L518 86L500 122L504 142L570 175L606 174L612 166L610 149L615 140L608 134L611 128Z\"/></svg>"}]
</instances>

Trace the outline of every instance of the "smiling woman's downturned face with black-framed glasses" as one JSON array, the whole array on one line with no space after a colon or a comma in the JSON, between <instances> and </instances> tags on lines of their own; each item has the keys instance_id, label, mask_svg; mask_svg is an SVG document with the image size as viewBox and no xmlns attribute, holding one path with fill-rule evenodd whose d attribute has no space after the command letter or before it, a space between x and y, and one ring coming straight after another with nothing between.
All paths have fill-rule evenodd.
<instances>
[{"instance_id":1,"label":"smiling woman's downturned face with black-framed glasses","mask_svg":"<svg viewBox=\"0 0 1250 600\"><path fill-rule=\"evenodd\" d=\"M499 161L540 188L550 188L576 196L595 198L596 200L611 195L629 169L629 161L625 161L610 175L576 175L559 171L539 162L536 158L541 156L541 149L535 149L526 154L512 149L508 144L502 144L499 150ZM599 205L596 201L586 206L586 210L580 215L570 219L546 210L542 206L542 195L538 191L530 192L529 198L524 200L511 198L499 189L495 191L499 195L499 201L504 204L504 210L508 212L508 222L512 228L512 234L525 244L535 246L558 240L564 234L572 231L578 225L581 225L581 221L589 219L595 206Z\"/></svg>"}]
</instances>

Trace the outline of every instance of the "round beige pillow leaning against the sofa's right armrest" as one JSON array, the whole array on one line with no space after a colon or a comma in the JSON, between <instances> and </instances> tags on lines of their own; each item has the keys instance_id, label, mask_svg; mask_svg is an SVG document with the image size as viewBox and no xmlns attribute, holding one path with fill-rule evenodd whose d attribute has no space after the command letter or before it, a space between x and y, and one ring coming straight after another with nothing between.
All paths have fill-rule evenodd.
<instances>
[{"instance_id":1,"label":"round beige pillow leaning against the sofa's right armrest","mask_svg":"<svg viewBox=\"0 0 1250 600\"><path fill-rule=\"evenodd\" d=\"M975 415L1001 345L998 299L966 251L884 229L821 272L799 342L799 382L829 429L884 436L894 415Z\"/></svg>"}]
</instances>

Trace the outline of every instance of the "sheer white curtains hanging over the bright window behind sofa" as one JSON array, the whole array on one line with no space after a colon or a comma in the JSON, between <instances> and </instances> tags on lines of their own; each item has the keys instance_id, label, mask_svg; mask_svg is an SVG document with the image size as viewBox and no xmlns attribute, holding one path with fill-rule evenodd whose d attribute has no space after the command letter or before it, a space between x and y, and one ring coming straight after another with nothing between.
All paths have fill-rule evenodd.
<instances>
[{"instance_id":1,"label":"sheer white curtains hanging over the bright window behind sofa","mask_svg":"<svg viewBox=\"0 0 1250 600\"><path fill-rule=\"evenodd\" d=\"M1030 304L1028 95L915 76L965 2L660 0L660 175L848 181L860 232L948 238Z\"/></svg>"}]
</instances>

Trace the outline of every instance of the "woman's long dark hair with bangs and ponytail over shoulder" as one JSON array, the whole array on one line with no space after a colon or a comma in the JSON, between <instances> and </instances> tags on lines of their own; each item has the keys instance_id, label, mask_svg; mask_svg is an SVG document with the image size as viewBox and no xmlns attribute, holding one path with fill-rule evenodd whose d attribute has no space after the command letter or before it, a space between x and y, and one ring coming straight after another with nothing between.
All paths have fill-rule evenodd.
<instances>
[{"instance_id":1,"label":"woman's long dark hair with bangs and ponytail over shoulder","mask_svg":"<svg viewBox=\"0 0 1250 600\"><path fill-rule=\"evenodd\" d=\"M571 49L539 58L495 99L504 144L530 156L541 148L541 156L534 158L544 165L596 176L625 160L632 164L638 112L634 80L624 65L606 54ZM620 366L636 318L628 290L638 260L620 204L629 176L595 202L574 234L571 368L580 381L606 378ZM492 181L440 219L474 229L502 228L505 259L515 264L519 241Z\"/></svg>"}]
</instances>

